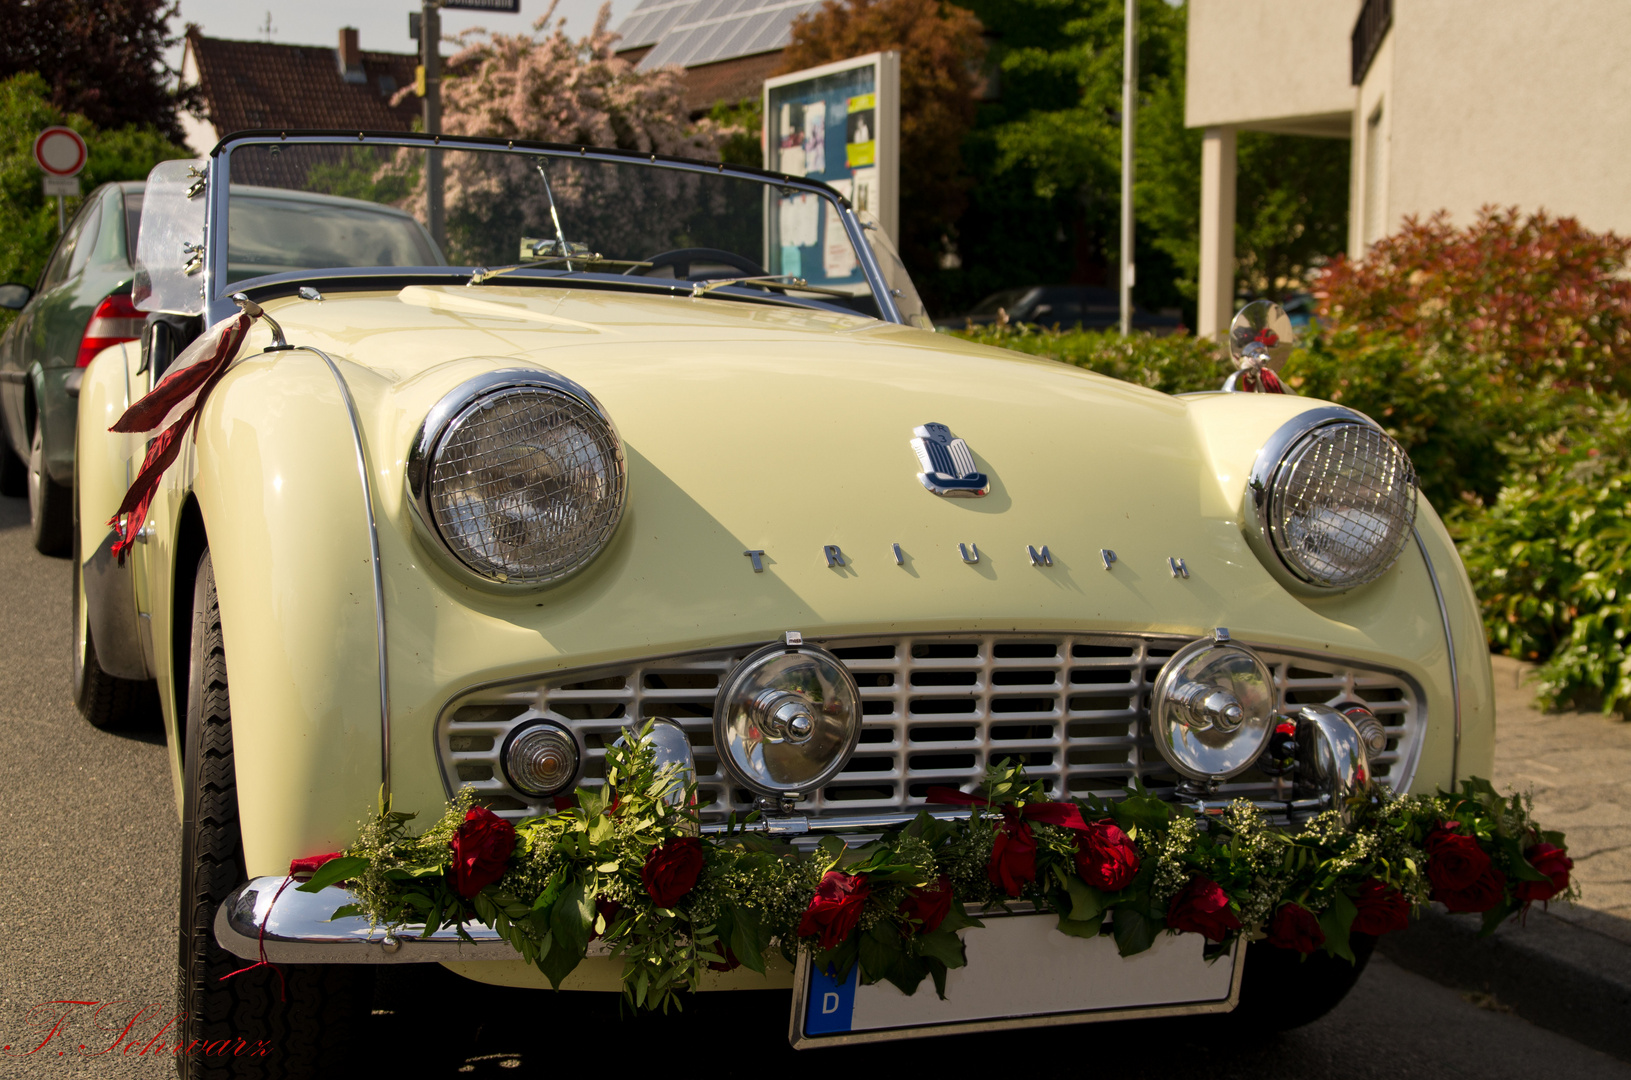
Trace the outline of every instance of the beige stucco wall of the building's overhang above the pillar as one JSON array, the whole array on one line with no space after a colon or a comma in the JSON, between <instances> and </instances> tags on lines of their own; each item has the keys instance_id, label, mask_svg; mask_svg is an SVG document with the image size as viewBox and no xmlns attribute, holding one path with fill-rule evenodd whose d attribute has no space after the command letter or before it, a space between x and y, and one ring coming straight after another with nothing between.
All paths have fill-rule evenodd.
<instances>
[{"instance_id":1,"label":"beige stucco wall of the building's overhang above the pillar","mask_svg":"<svg viewBox=\"0 0 1631 1080\"><path fill-rule=\"evenodd\" d=\"M1189 0L1184 122L1347 134L1360 0Z\"/></svg>"}]
</instances>

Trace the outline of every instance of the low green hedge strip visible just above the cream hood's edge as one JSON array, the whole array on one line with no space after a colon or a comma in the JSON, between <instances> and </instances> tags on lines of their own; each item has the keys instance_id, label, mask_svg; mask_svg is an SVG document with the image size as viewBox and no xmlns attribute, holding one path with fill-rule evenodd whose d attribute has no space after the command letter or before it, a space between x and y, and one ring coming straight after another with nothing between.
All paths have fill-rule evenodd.
<instances>
[{"instance_id":1,"label":"low green hedge strip visible just above the cream hood's edge","mask_svg":"<svg viewBox=\"0 0 1631 1080\"><path fill-rule=\"evenodd\" d=\"M953 333L979 344L1085 367L1161 393L1217 390L1233 370L1217 344L1187 334L1156 338L1134 333L1124 338L1114 330L1023 325L974 326Z\"/></svg>"}]
</instances>

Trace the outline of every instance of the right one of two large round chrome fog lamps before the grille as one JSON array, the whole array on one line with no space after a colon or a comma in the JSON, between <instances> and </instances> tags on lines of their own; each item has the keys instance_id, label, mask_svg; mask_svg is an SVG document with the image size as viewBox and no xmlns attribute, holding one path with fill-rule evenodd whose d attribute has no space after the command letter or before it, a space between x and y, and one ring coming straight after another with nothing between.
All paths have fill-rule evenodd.
<instances>
[{"instance_id":1,"label":"right one of two large round chrome fog lamps before the grille","mask_svg":"<svg viewBox=\"0 0 1631 1080\"><path fill-rule=\"evenodd\" d=\"M1150 729L1186 780L1218 783L1253 767L1274 734L1269 666L1227 630L1178 649L1155 679Z\"/></svg>"}]
</instances>

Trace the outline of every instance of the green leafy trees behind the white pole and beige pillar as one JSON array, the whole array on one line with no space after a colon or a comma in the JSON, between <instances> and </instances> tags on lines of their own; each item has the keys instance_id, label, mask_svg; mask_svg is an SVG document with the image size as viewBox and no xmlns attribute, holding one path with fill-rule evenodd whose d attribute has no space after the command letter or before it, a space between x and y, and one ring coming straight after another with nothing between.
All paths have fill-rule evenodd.
<instances>
[{"instance_id":1,"label":"green leafy trees behind the white pole and beige pillar","mask_svg":"<svg viewBox=\"0 0 1631 1080\"><path fill-rule=\"evenodd\" d=\"M980 106L979 181L959 224L962 303L1000 285L1112 284L1120 215L1122 0L966 0L995 38L1001 96ZM1134 297L1192 315L1200 132L1184 127L1186 10L1138 0ZM1241 132L1243 284L1295 290L1347 232L1347 144Z\"/></svg>"}]
</instances>

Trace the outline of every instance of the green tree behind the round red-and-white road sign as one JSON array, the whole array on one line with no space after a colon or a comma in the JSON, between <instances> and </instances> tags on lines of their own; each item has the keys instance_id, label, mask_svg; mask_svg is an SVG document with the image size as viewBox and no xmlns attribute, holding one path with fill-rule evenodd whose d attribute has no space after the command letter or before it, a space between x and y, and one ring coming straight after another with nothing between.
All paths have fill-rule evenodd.
<instances>
[{"instance_id":1,"label":"green tree behind the round red-and-white road sign","mask_svg":"<svg viewBox=\"0 0 1631 1080\"><path fill-rule=\"evenodd\" d=\"M109 181L144 179L158 162L188 157L153 127L96 131L83 116L64 116L51 95L46 80L34 73L0 82L0 281L33 285L57 243L55 199L44 196L34 162L34 135L42 127L64 124L85 137L88 157L80 173L85 194ZM70 215L78 202L69 199ZM11 316L5 312L0 326Z\"/></svg>"}]
</instances>

